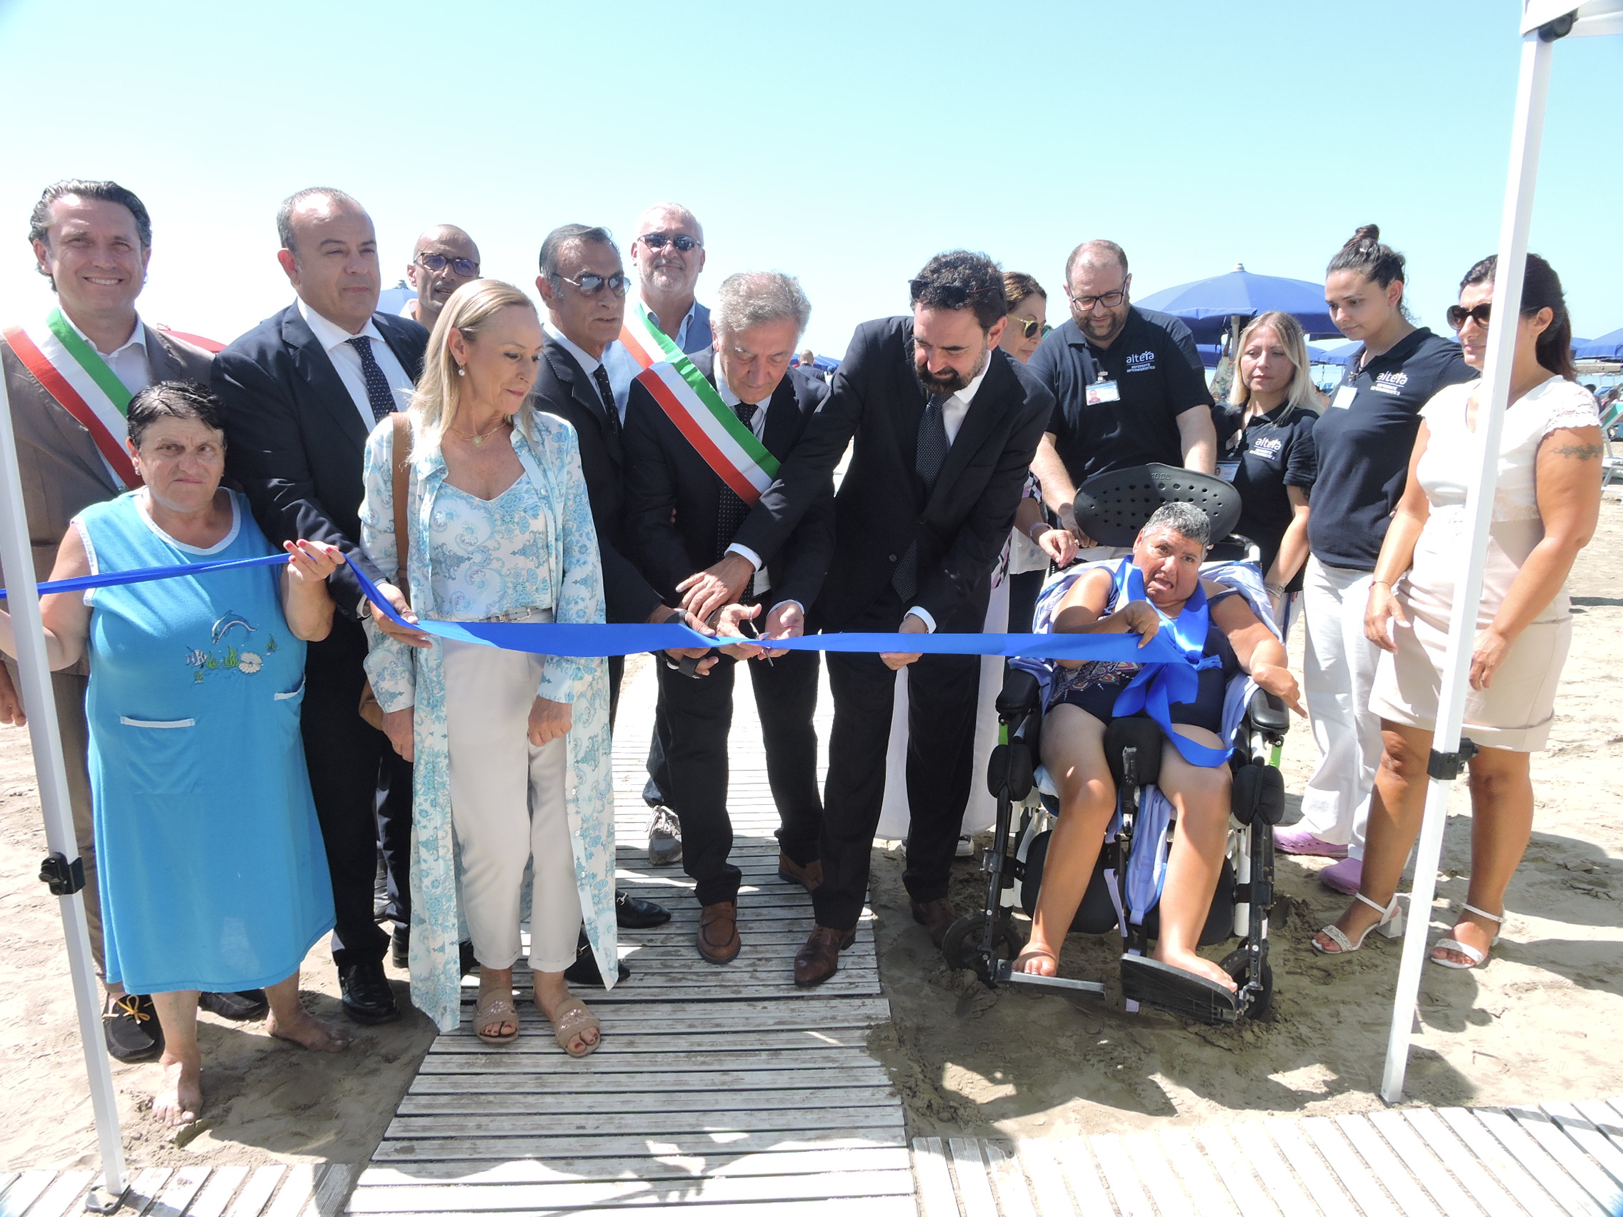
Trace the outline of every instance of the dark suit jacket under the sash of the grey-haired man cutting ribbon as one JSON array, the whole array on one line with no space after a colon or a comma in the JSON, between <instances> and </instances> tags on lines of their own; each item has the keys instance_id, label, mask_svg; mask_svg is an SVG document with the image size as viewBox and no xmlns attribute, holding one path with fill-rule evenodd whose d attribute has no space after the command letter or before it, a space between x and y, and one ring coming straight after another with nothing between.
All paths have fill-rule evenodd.
<instances>
[{"instance_id":1,"label":"dark suit jacket under the sash of the grey-haired man cutting ribbon","mask_svg":"<svg viewBox=\"0 0 1623 1217\"><path fill-rule=\"evenodd\" d=\"M690 359L714 385L716 352L700 350ZM824 398L828 385L789 368L766 402L766 451L787 459ZM631 381L625 406L625 461L631 557L674 604L677 584L716 561L716 505L725 484L639 381ZM799 600L810 608L833 553L834 482L824 477L812 506L766 568L773 583L764 607Z\"/></svg>"}]
</instances>

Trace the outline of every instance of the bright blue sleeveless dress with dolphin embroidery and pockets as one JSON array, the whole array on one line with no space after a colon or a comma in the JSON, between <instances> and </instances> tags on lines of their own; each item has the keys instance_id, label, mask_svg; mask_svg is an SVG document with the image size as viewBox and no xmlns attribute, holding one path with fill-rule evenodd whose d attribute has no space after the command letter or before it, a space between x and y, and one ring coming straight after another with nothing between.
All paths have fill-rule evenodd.
<instances>
[{"instance_id":1,"label":"bright blue sleeveless dress with dolphin embroidery and pockets","mask_svg":"<svg viewBox=\"0 0 1623 1217\"><path fill-rule=\"evenodd\" d=\"M91 571L273 553L232 493L201 550L161 532L131 490L75 518ZM91 792L107 980L131 993L263 988L333 928L299 703L305 644L281 566L84 594L91 605Z\"/></svg>"}]
</instances>

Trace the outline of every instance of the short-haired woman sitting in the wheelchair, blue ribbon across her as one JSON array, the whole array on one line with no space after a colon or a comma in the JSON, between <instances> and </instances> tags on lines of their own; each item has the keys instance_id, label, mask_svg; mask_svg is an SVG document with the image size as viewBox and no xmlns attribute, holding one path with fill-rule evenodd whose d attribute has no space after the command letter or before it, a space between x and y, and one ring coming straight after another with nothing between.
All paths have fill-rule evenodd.
<instances>
[{"instance_id":1,"label":"short-haired woman sitting in the wheelchair, blue ribbon across her","mask_svg":"<svg viewBox=\"0 0 1623 1217\"><path fill-rule=\"evenodd\" d=\"M1133 544L1131 561L1143 574L1147 600L1123 596L1115 571L1100 566L1070 589L1053 615L1053 628L1081 634L1134 633L1143 636L1139 646L1147 646L1164 623L1178 620L1196 589L1204 591L1204 656L1219 662L1198 672L1199 693L1193 701L1172 703L1170 719L1178 735L1222 748L1224 688L1240 670L1297 714L1303 711L1279 639L1240 592L1201 579L1209 545L1211 522L1204 511L1188 503L1160 506ZM1115 717L1117 698L1139 670L1138 664L1057 662L1061 667L1044 716L1042 763L1060 790L1060 821L1048 842L1031 940L1014 964L1037 975L1057 972L1060 948L1115 813L1105 725ZM1233 978L1195 951L1227 847L1229 782L1227 764L1191 764L1170 740L1164 742L1157 784L1177 808L1178 829L1167 860L1154 957L1232 991Z\"/></svg>"}]
</instances>

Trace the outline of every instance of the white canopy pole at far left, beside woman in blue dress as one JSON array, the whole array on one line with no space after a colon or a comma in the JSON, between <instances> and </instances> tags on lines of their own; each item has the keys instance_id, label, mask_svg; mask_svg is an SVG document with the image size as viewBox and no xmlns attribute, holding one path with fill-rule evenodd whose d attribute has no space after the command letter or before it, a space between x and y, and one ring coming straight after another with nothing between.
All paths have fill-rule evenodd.
<instances>
[{"instance_id":1,"label":"white canopy pole at far left, beside woman in blue dress","mask_svg":"<svg viewBox=\"0 0 1623 1217\"><path fill-rule=\"evenodd\" d=\"M34 748L39 803L45 813L45 844L52 854L68 860L78 875L78 886L83 886L84 873L80 868L80 844L68 803L68 774L62 763L57 701L50 690L50 664L45 659L45 634L39 620L34 553L28 539L28 514L23 508L23 484L18 475L16 436L11 430L11 401L5 376L0 376L0 563L5 565L6 574L6 608L16 634L16 667L23 682L19 691L28 712L29 743ZM118 1100L107 1066L107 1043L102 1039L101 991L96 987L96 965L84 922L84 894L75 888L57 899L62 905L63 938L68 943L73 1001L80 1013L80 1040L91 1084L91 1110L101 1142L102 1178L97 1188L102 1194L93 1191L86 1207L110 1211L125 1188L123 1142L118 1134Z\"/></svg>"}]
</instances>

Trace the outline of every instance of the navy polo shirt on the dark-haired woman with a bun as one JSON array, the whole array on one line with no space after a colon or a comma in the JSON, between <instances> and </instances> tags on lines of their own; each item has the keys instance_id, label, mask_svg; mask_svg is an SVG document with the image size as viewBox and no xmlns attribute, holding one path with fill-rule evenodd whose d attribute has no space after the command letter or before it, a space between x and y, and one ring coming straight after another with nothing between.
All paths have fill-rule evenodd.
<instances>
[{"instance_id":1,"label":"navy polo shirt on the dark-haired woman with a bun","mask_svg":"<svg viewBox=\"0 0 1623 1217\"><path fill-rule=\"evenodd\" d=\"M1420 407L1448 385L1477 378L1457 342L1420 328L1362 368L1347 362L1329 407L1313 425L1318 479L1308 544L1326 566L1373 571L1409 480Z\"/></svg>"}]
</instances>

